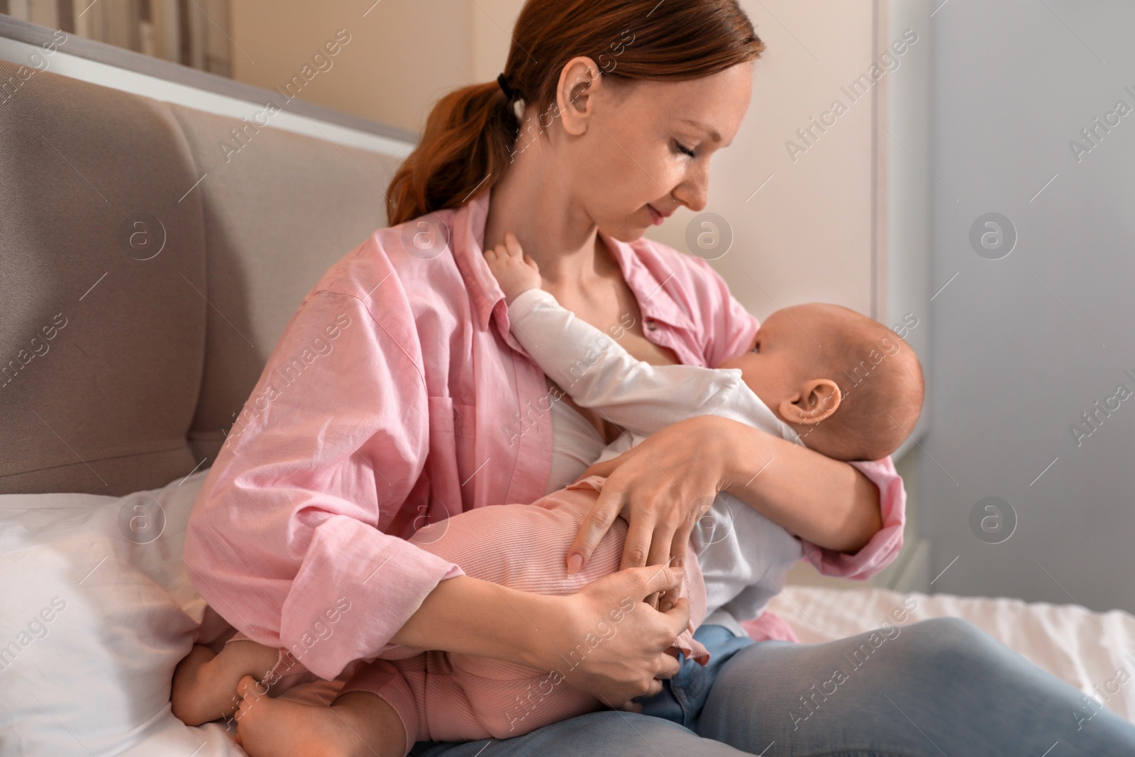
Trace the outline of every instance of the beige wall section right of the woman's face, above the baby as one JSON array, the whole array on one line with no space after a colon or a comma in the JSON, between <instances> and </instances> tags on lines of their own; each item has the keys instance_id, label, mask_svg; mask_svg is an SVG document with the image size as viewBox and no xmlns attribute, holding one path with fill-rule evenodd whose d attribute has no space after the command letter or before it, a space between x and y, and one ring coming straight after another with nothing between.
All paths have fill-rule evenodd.
<instances>
[{"instance_id":1,"label":"beige wall section right of the woman's face, above the baby","mask_svg":"<svg viewBox=\"0 0 1135 757\"><path fill-rule=\"evenodd\" d=\"M713 264L760 318L777 304L813 301L869 314L872 104L854 106L794 163L784 142L831 104L846 79L866 68L872 2L741 5L766 50L754 69L741 131L712 162L706 210L724 217L734 233L730 252ZM686 228L693 216L682 209L648 236L687 250Z\"/></svg>"}]
</instances>

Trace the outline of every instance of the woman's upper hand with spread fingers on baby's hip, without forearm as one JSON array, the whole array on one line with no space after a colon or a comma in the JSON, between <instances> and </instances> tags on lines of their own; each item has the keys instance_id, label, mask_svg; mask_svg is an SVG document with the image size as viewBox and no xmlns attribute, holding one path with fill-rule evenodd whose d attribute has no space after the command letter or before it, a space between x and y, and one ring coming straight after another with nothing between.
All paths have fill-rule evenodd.
<instances>
[{"instance_id":1,"label":"woman's upper hand with spread fingers on baby's hip, without forearm","mask_svg":"<svg viewBox=\"0 0 1135 757\"><path fill-rule=\"evenodd\" d=\"M605 476L607 480L568 548L568 572L587 564L620 515L630 524L621 567L667 562L681 567L693 524L731 472L729 463L737 451L731 448L729 427L722 426L731 422L741 426L715 415L688 418L587 469L580 478ZM751 457L759 449L747 453Z\"/></svg>"}]
</instances>

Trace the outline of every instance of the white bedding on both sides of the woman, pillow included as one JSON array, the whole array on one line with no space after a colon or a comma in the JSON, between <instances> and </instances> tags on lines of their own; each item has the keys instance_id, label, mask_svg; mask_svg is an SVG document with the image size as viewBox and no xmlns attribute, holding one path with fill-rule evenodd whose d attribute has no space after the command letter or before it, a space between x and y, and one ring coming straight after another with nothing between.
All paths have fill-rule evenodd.
<instances>
[{"instance_id":1,"label":"white bedding on both sides of the woman, pillow included","mask_svg":"<svg viewBox=\"0 0 1135 757\"><path fill-rule=\"evenodd\" d=\"M187 727L169 709L174 665L208 615L180 561L205 471L128 497L0 496L0 755L242 757L221 724ZM151 511L138 503L149 502ZM154 520L160 504L163 518ZM160 527L150 535L154 523ZM771 609L801 641L906 622L968 619L1107 707L1135 720L1135 616L1073 605L789 587ZM54 611L50 608L54 607ZM40 622L40 619L43 622ZM207 638L208 637L208 638ZM1121 679L1121 680L1120 680ZM288 696L334 698L337 684ZM319 689L318 691L316 689ZM60 727L61 726L61 727Z\"/></svg>"}]
</instances>

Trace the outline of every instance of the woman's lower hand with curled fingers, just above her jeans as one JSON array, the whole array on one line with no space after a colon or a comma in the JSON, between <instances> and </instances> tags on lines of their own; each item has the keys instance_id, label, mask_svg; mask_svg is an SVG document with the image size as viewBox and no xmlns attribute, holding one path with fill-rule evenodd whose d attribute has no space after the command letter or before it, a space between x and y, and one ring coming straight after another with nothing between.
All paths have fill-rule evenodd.
<instances>
[{"instance_id":1,"label":"woman's lower hand with curled fingers, just above her jeans","mask_svg":"<svg viewBox=\"0 0 1135 757\"><path fill-rule=\"evenodd\" d=\"M532 617L539 646L526 662L550 671L552 685L565 681L615 709L640 710L632 699L658 693L661 679L678 673L678 659L666 650L690 622L684 597L664 603L665 612L644 598L674 596L682 577L665 565L637 567L566 597L541 597L546 607Z\"/></svg>"}]
</instances>

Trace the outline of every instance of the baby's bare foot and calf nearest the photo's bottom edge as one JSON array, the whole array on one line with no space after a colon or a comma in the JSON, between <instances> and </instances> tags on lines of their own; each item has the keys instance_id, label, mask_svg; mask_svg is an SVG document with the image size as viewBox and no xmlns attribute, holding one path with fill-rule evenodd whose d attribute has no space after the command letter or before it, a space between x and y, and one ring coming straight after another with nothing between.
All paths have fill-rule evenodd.
<instances>
[{"instance_id":1,"label":"baby's bare foot and calf nearest the photo's bottom edge","mask_svg":"<svg viewBox=\"0 0 1135 757\"><path fill-rule=\"evenodd\" d=\"M402 757L405 731L375 695L353 691L330 707L263 696L252 678L237 691L236 742L250 757Z\"/></svg>"}]
</instances>

